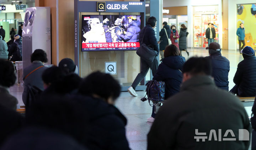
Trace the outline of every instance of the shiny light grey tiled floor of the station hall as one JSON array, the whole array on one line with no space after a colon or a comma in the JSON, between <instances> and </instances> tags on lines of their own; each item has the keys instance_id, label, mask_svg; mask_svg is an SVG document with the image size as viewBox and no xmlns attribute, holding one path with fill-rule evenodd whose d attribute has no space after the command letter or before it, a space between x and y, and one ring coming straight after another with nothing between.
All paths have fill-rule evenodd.
<instances>
[{"instance_id":1,"label":"shiny light grey tiled floor of the station hall","mask_svg":"<svg viewBox=\"0 0 256 150\"><path fill-rule=\"evenodd\" d=\"M208 50L201 48L188 48L190 52L189 57L193 56L208 56ZM183 56L188 59L185 51ZM243 60L242 54L238 50L222 50L222 55L230 61L229 72L229 90L235 85L233 77L236 72L237 65ZM19 104L23 106L22 102L22 86L12 86L10 93L17 97ZM126 126L127 139L132 150L146 150L147 134L152 123L147 122L147 118L151 117L152 107L147 101L142 102L140 98L145 96L145 91L137 91L138 97L132 97L128 92L122 92L121 96L116 101L116 107L126 116L128 124ZM245 107L248 115L251 115L251 108Z\"/></svg>"}]
</instances>

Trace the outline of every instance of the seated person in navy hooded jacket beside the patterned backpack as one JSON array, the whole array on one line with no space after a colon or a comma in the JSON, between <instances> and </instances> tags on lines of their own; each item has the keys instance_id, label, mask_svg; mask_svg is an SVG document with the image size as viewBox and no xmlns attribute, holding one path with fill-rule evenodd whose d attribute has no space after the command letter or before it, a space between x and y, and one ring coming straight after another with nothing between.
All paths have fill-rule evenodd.
<instances>
[{"instance_id":1,"label":"seated person in navy hooded jacket beside the patterned backpack","mask_svg":"<svg viewBox=\"0 0 256 150\"><path fill-rule=\"evenodd\" d=\"M164 59L158 66L153 80L165 82L165 100L180 91L182 82L182 67L185 63L185 57L181 56L180 50L176 45L171 44L165 48ZM148 122L155 120L155 107Z\"/></svg>"}]
</instances>

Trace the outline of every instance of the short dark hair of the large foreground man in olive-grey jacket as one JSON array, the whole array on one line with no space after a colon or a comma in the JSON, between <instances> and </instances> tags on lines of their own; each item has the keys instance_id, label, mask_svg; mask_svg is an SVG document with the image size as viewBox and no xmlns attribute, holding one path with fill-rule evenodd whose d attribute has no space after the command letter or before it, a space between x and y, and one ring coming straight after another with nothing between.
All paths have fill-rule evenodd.
<instances>
[{"instance_id":1,"label":"short dark hair of the large foreground man in olive-grey jacket","mask_svg":"<svg viewBox=\"0 0 256 150\"><path fill-rule=\"evenodd\" d=\"M212 75L212 64L208 58L192 57L188 59L183 65L183 73L190 73L191 75Z\"/></svg>"}]
</instances>

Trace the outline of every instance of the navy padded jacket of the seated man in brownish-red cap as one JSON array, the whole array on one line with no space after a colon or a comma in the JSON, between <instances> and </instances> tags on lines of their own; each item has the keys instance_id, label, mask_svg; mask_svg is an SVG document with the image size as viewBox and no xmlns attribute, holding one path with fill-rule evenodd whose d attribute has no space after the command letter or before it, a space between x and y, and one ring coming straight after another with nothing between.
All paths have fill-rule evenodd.
<instances>
[{"instance_id":1,"label":"navy padded jacket of the seated man in brownish-red cap","mask_svg":"<svg viewBox=\"0 0 256 150\"><path fill-rule=\"evenodd\" d=\"M212 76L217 87L223 90L229 90L229 60L223 57L221 53L211 54L207 56L212 61Z\"/></svg>"}]
</instances>

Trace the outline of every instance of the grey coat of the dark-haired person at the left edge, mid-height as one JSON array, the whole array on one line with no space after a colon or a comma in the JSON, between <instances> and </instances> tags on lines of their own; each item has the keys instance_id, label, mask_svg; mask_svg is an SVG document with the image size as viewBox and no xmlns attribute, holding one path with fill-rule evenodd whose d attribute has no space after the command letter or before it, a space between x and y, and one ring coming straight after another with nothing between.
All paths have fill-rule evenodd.
<instances>
[{"instance_id":1,"label":"grey coat of the dark-haired person at the left edge, mid-height","mask_svg":"<svg viewBox=\"0 0 256 150\"><path fill-rule=\"evenodd\" d=\"M12 96L9 91L0 86L0 105L4 106L5 108L11 109L16 111L18 100L16 97Z\"/></svg>"}]
</instances>

